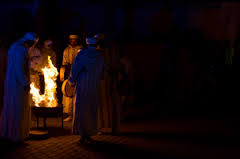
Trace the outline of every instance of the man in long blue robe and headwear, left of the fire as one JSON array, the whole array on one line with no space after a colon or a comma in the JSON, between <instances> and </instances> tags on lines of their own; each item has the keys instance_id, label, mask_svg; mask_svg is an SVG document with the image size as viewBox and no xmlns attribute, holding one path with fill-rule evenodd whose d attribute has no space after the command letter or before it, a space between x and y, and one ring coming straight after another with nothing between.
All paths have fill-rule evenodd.
<instances>
[{"instance_id":1,"label":"man in long blue robe and headwear, left of the fire","mask_svg":"<svg viewBox=\"0 0 240 159\"><path fill-rule=\"evenodd\" d=\"M0 136L14 142L23 142L31 124L29 94L29 48L38 40L34 33L11 45L4 83L4 105L0 116Z\"/></svg>"}]
</instances>

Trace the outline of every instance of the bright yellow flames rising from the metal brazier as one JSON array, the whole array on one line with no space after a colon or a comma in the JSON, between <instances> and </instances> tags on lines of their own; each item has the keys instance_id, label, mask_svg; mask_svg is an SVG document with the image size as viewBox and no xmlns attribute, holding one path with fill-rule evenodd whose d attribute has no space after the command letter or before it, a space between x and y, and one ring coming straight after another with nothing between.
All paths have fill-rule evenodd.
<instances>
[{"instance_id":1,"label":"bright yellow flames rising from the metal brazier","mask_svg":"<svg viewBox=\"0 0 240 159\"><path fill-rule=\"evenodd\" d=\"M39 89L35 87L35 84L32 82L30 85L30 93L32 94L32 99L35 106L40 107L44 105L46 107L56 107L58 105L56 98L56 80L58 76L57 68L54 67L50 56L48 56L48 66L42 69L45 82L45 92L43 95L40 95Z\"/></svg>"}]
</instances>

